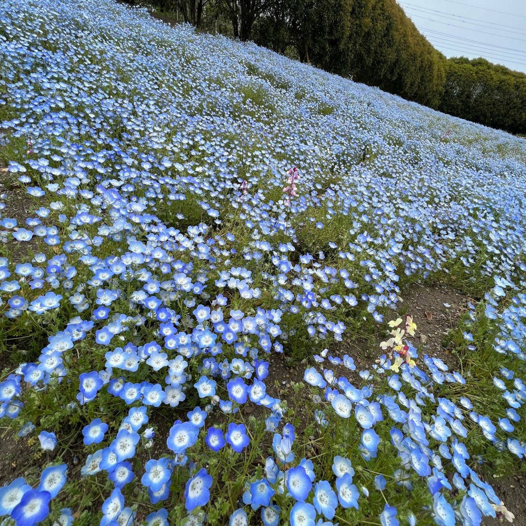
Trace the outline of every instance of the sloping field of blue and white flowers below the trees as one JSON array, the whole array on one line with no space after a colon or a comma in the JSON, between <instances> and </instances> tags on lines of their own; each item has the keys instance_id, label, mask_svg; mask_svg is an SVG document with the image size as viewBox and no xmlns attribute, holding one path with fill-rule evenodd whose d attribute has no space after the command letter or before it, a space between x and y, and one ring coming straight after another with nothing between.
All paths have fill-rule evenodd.
<instances>
[{"instance_id":1,"label":"sloping field of blue and white flowers below the trees","mask_svg":"<svg viewBox=\"0 0 526 526\"><path fill-rule=\"evenodd\" d=\"M524 140L110 0L4 0L0 161L0 423L33 457L2 526L502 513ZM437 281L472 298L458 370L404 307Z\"/></svg>"}]
</instances>

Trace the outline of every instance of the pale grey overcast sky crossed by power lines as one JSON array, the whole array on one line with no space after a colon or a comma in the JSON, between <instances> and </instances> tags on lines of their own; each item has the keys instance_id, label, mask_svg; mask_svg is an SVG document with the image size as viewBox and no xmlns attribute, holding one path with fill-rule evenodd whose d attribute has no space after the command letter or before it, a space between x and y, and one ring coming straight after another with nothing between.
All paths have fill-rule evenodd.
<instances>
[{"instance_id":1,"label":"pale grey overcast sky crossed by power lines","mask_svg":"<svg viewBox=\"0 0 526 526\"><path fill-rule=\"evenodd\" d=\"M397 0L447 57L484 57L526 73L526 0Z\"/></svg>"}]
</instances>

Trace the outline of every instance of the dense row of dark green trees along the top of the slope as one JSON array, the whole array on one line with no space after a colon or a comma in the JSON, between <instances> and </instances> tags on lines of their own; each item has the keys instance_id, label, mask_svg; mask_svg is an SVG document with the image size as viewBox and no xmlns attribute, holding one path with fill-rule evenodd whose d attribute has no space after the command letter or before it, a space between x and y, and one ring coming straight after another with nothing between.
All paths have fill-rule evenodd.
<instances>
[{"instance_id":1,"label":"dense row of dark green trees along the top of the slope","mask_svg":"<svg viewBox=\"0 0 526 526\"><path fill-rule=\"evenodd\" d=\"M451 115L526 133L526 75L482 58L448 60L396 0L127 1Z\"/></svg>"}]
</instances>

